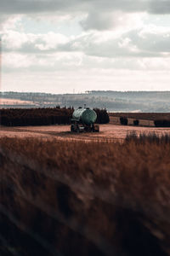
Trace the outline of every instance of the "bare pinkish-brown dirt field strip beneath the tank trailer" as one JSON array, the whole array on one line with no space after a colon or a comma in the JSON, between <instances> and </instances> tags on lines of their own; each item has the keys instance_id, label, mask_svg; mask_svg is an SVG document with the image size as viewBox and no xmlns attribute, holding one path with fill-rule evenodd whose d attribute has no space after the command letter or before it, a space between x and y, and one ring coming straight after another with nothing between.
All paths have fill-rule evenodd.
<instances>
[{"instance_id":1,"label":"bare pinkish-brown dirt field strip beneath the tank trailer","mask_svg":"<svg viewBox=\"0 0 170 256\"><path fill-rule=\"evenodd\" d=\"M128 132L136 131L156 134L170 133L170 128L156 127L136 127L124 125L99 125L99 133L80 133L74 134L70 131L70 125L50 125L50 126L26 126L26 127L4 127L0 126L0 137L41 137L41 138L56 138L59 140L123 140Z\"/></svg>"}]
</instances>

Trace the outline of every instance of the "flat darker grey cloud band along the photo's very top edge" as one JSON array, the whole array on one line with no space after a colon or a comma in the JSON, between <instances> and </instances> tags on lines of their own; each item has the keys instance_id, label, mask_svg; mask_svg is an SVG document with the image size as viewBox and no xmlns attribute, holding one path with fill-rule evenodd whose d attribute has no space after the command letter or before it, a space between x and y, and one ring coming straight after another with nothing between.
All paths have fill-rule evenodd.
<instances>
[{"instance_id":1,"label":"flat darker grey cloud band along the photo's very top edge","mask_svg":"<svg viewBox=\"0 0 170 256\"><path fill-rule=\"evenodd\" d=\"M170 11L168 0L2 0L4 14L32 14L48 11L100 11L122 10L124 12L146 11L167 14Z\"/></svg>"}]
</instances>

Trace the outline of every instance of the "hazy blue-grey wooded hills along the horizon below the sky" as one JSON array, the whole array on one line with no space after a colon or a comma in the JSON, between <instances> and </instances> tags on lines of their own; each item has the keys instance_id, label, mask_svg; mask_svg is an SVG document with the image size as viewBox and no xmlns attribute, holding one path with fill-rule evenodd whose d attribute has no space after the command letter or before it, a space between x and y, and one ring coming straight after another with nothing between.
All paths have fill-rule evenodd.
<instances>
[{"instance_id":1,"label":"hazy blue-grey wooded hills along the horizon below the sky","mask_svg":"<svg viewBox=\"0 0 170 256\"><path fill-rule=\"evenodd\" d=\"M170 91L92 90L81 94L46 94L1 92L0 98L26 101L26 105L4 105L0 108L106 108L109 112L170 112ZM31 102L29 105L28 102Z\"/></svg>"}]
</instances>

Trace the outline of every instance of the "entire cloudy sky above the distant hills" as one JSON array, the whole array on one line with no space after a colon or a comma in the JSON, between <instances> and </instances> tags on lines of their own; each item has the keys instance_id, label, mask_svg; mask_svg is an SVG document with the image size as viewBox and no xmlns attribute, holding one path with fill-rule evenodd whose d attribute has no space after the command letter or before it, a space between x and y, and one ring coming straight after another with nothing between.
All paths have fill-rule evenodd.
<instances>
[{"instance_id":1,"label":"entire cloudy sky above the distant hills","mask_svg":"<svg viewBox=\"0 0 170 256\"><path fill-rule=\"evenodd\" d=\"M169 0L1 0L2 89L170 90Z\"/></svg>"}]
</instances>

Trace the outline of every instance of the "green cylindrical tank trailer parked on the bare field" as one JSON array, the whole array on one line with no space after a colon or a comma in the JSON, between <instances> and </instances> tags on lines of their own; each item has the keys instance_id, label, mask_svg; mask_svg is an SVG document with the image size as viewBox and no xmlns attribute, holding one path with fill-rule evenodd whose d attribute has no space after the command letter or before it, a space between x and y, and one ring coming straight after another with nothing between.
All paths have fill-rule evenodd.
<instances>
[{"instance_id":1,"label":"green cylindrical tank trailer parked on the bare field","mask_svg":"<svg viewBox=\"0 0 170 256\"><path fill-rule=\"evenodd\" d=\"M99 125L94 124L97 113L93 109L78 108L72 113L71 132L99 132Z\"/></svg>"}]
</instances>

